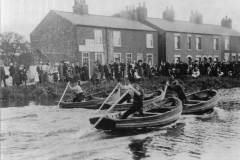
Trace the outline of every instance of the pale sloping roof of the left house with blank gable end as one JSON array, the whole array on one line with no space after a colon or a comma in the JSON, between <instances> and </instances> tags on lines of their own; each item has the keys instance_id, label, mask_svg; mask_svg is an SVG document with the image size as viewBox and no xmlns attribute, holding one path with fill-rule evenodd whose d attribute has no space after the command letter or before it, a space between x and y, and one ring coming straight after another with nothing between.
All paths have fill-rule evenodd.
<instances>
[{"instance_id":1,"label":"pale sloping roof of the left house with blank gable end","mask_svg":"<svg viewBox=\"0 0 240 160\"><path fill-rule=\"evenodd\" d=\"M78 15L72 12L53 11L64 19L67 19L75 25L107 27L117 29L156 31L138 21L128 20L119 17L101 16L101 15Z\"/></svg>"}]
</instances>

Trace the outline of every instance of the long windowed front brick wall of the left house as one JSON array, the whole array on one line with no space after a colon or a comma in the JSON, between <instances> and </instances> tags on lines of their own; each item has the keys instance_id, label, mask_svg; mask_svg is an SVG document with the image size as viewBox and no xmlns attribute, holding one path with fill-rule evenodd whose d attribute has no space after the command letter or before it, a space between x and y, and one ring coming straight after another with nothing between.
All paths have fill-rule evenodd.
<instances>
[{"instance_id":1,"label":"long windowed front brick wall of the left house","mask_svg":"<svg viewBox=\"0 0 240 160\"><path fill-rule=\"evenodd\" d=\"M90 26L77 26L76 39L78 45L84 45L86 39L94 39L94 30L102 30L103 41L103 55L106 63L111 63L114 53L121 53L122 62L126 62L126 53L132 53L133 61L137 60L137 53L142 53L144 60L146 60L146 54L152 53L154 56L154 64L158 64L158 35L157 32L137 31L137 30L123 30L123 29L110 29L101 27ZM113 46L113 31L121 32L121 47ZM146 47L146 34L153 34L153 46L154 48ZM92 73L93 65L95 62L95 53L90 52L90 70ZM78 51L75 60L82 64L82 53ZM91 74L90 73L90 74Z\"/></svg>"}]
</instances>

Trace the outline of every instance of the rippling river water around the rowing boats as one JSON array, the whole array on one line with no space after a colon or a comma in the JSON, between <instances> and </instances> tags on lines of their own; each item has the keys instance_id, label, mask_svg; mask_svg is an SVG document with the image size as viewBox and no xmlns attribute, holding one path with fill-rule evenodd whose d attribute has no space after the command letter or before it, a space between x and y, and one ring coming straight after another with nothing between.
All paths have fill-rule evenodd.
<instances>
[{"instance_id":1,"label":"rippling river water around the rowing boats","mask_svg":"<svg viewBox=\"0 0 240 160\"><path fill-rule=\"evenodd\" d=\"M213 114L133 133L91 129L94 110L1 108L1 160L239 160L240 89L220 90Z\"/></svg>"}]
</instances>

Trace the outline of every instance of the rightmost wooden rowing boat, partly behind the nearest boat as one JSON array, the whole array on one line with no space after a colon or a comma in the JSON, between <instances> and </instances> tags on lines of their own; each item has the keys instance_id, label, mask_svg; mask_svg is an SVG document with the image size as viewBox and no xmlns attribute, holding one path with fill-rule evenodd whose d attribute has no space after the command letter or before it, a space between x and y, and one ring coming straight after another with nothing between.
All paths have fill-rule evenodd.
<instances>
[{"instance_id":1,"label":"rightmost wooden rowing boat, partly behind the nearest boat","mask_svg":"<svg viewBox=\"0 0 240 160\"><path fill-rule=\"evenodd\" d=\"M187 101L183 104L183 114L203 114L212 110L218 102L216 90L207 89L186 96Z\"/></svg>"}]
</instances>

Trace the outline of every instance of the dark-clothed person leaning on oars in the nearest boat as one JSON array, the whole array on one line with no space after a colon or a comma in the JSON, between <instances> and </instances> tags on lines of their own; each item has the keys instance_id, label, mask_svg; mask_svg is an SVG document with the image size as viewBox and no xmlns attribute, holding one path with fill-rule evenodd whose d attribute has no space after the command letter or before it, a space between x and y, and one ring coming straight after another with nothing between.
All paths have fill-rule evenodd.
<instances>
[{"instance_id":1,"label":"dark-clothed person leaning on oars in the nearest boat","mask_svg":"<svg viewBox=\"0 0 240 160\"><path fill-rule=\"evenodd\" d=\"M121 119L126 119L129 115L135 112L139 112L141 116L144 116L142 111L144 95L143 89L139 84L135 83L134 80L130 81L130 84L127 86L127 88L131 90L130 95L133 97L133 104L131 108L122 115Z\"/></svg>"}]
</instances>

